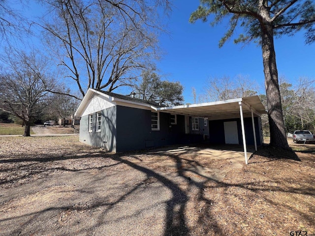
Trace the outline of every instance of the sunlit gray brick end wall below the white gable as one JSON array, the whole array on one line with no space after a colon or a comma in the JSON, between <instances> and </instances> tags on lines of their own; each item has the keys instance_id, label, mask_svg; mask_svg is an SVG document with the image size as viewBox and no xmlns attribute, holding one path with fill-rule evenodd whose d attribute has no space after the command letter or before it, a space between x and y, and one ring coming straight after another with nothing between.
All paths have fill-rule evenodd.
<instances>
[{"instance_id":1,"label":"sunlit gray brick end wall below the white gable","mask_svg":"<svg viewBox=\"0 0 315 236\"><path fill-rule=\"evenodd\" d=\"M92 132L89 132L89 115L80 121L80 142L116 152L116 106L101 111L101 130L96 131L96 113L93 116Z\"/></svg>"}]
</instances>

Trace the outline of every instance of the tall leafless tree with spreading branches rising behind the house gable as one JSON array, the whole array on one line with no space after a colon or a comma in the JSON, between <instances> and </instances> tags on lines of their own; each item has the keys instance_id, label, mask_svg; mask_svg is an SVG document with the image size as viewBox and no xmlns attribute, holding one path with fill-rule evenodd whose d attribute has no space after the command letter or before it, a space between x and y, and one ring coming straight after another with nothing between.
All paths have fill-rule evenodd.
<instances>
[{"instance_id":1,"label":"tall leafless tree with spreading branches rising behind the house gable","mask_svg":"<svg viewBox=\"0 0 315 236\"><path fill-rule=\"evenodd\" d=\"M48 45L82 95L87 88L112 91L130 86L158 59L156 6L167 5L167 0L46 2L55 13L41 24Z\"/></svg>"}]
</instances>

